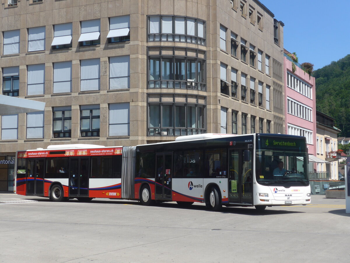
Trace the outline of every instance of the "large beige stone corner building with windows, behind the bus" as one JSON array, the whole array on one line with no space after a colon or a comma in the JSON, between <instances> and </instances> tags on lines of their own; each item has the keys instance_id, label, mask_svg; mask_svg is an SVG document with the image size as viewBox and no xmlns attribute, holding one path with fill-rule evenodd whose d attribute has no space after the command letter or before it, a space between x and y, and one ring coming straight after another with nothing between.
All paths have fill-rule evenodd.
<instances>
[{"instance_id":1,"label":"large beige stone corner building with windows, behind the bus","mask_svg":"<svg viewBox=\"0 0 350 263\"><path fill-rule=\"evenodd\" d=\"M1 1L1 94L46 105L2 116L0 157L284 133L283 23L258 0Z\"/></svg>"}]
</instances>

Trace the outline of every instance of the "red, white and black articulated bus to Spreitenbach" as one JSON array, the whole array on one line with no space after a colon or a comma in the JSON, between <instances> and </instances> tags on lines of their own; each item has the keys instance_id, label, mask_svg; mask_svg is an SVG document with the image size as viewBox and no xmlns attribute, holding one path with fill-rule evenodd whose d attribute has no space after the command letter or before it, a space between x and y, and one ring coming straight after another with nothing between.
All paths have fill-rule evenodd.
<instances>
[{"instance_id":1,"label":"red, white and black articulated bus to Spreitenbach","mask_svg":"<svg viewBox=\"0 0 350 263\"><path fill-rule=\"evenodd\" d=\"M205 203L264 210L310 204L306 138L282 134L198 134L128 147L52 145L18 151L15 193Z\"/></svg>"}]
</instances>

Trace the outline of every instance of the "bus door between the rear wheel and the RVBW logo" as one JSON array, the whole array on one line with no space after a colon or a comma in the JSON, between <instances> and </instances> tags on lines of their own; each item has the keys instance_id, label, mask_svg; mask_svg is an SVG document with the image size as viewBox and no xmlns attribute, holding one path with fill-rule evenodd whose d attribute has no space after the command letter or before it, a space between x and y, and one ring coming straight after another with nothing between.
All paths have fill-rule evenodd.
<instances>
[{"instance_id":1,"label":"bus door between the rear wheel and the RVBW logo","mask_svg":"<svg viewBox=\"0 0 350 263\"><path fill-rule=\"evenodd\" d=\"M89 196L89 159L71 158L69 196Z\"/></svg>"}]
</instances>

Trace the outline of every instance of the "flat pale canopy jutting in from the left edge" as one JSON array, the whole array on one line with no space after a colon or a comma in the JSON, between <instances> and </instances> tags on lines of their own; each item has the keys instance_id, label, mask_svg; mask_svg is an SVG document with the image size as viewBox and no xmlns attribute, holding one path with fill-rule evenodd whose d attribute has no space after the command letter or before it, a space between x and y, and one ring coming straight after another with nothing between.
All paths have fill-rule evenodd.
<instances>
[{"instance_id":1,"label":"flat pale canopy jutting in from the left edge","mask_svg":"<svg viewBox=\"0 0 350 263\"><path fill-rule=\"evenodd\" d=\"M45 102L0 95L0 115L39 112L44 108Z\"/></svg>"}]
</instances>

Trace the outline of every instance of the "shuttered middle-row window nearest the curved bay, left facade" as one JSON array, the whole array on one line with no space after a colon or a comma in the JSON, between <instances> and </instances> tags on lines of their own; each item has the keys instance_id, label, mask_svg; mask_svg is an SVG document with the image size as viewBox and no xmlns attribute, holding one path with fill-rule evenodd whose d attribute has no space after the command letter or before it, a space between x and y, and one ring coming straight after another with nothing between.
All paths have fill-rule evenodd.
<instances>
[{"instance_id":1,"label":"shuttered middle-row window nearest the curved bay, left facade","mask_svg":"<svg viewBox=\"0 0 350 263\"><path fill-rule=\"evenodd\" d=\"M130 88L130 56L110 58L110 89Z\"/></svg>"}]
</instances>

